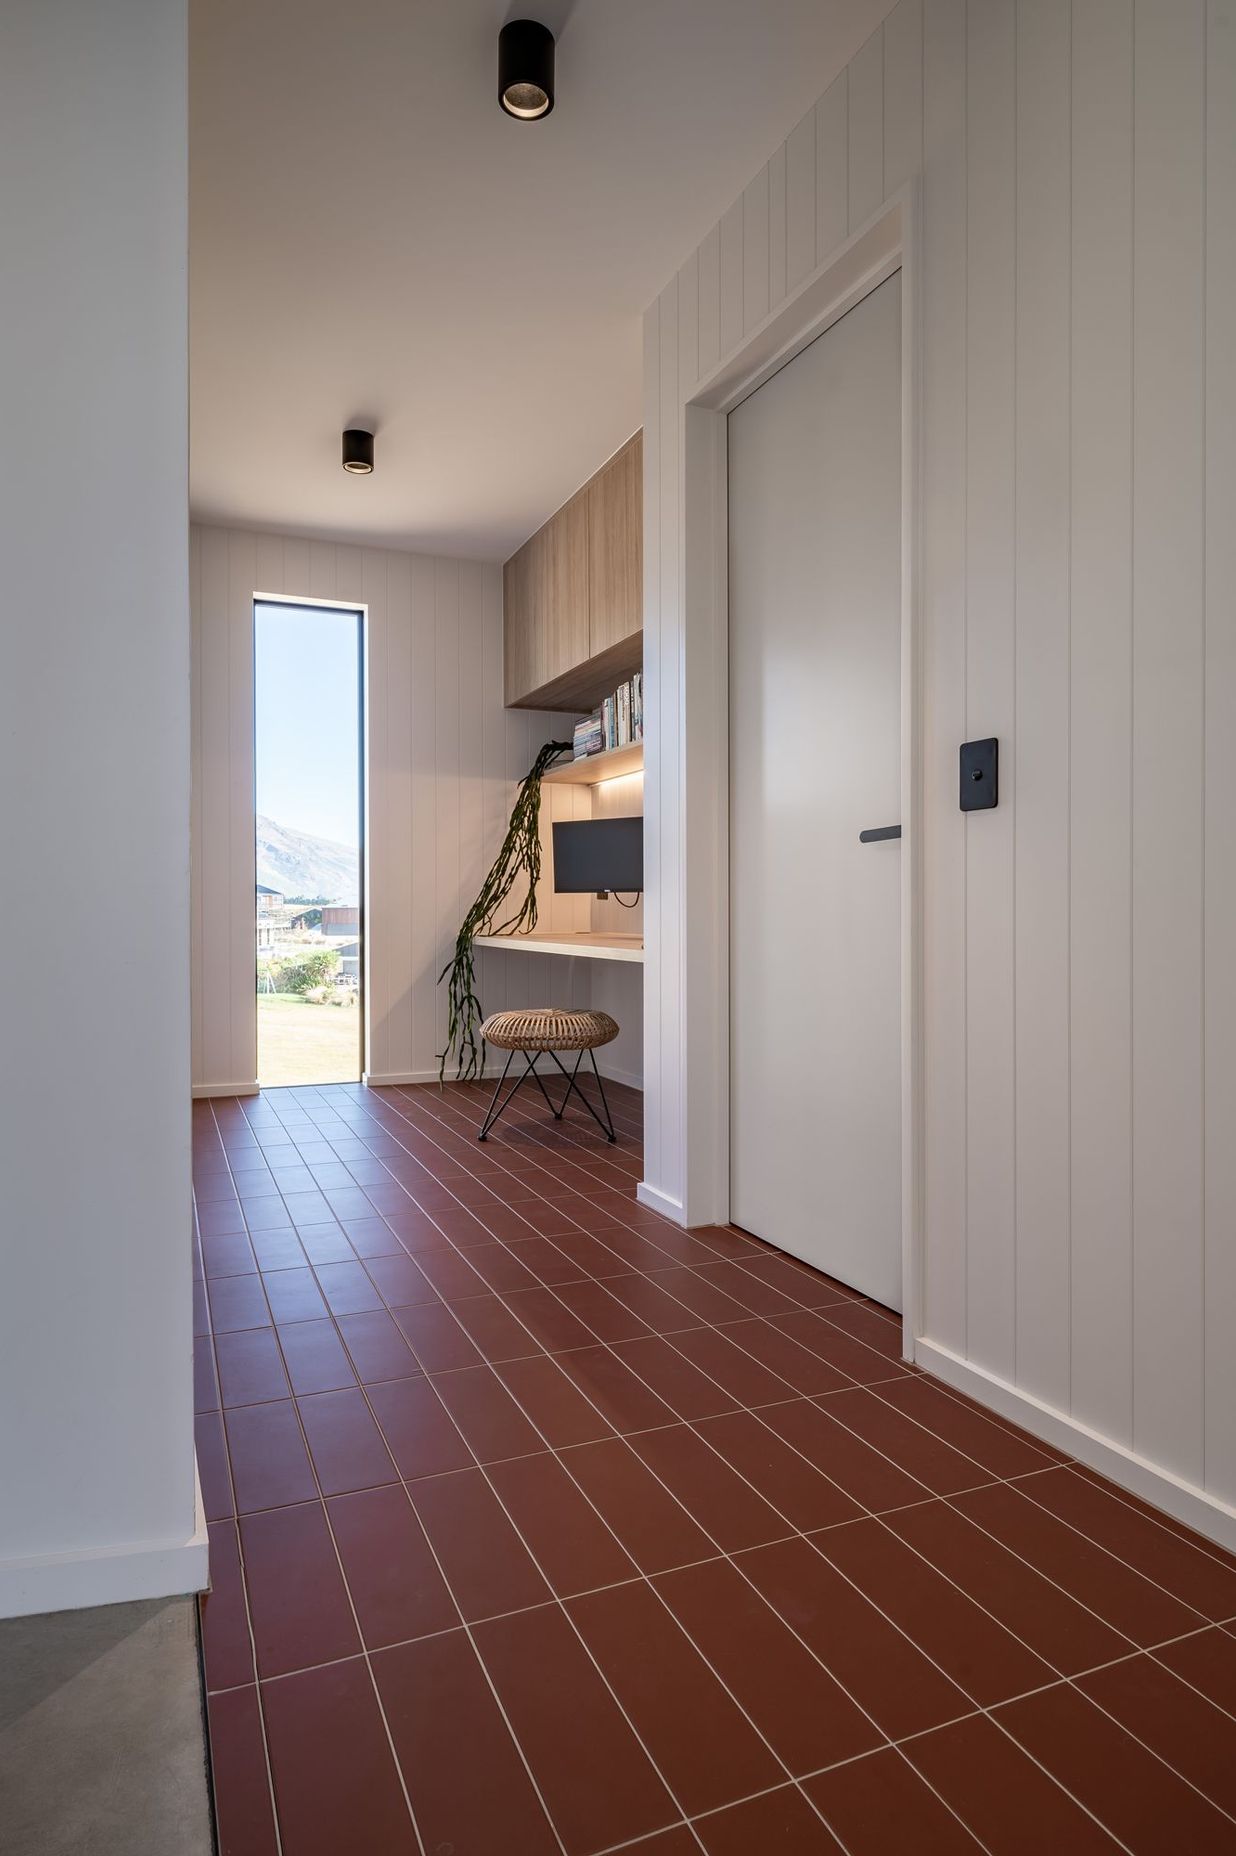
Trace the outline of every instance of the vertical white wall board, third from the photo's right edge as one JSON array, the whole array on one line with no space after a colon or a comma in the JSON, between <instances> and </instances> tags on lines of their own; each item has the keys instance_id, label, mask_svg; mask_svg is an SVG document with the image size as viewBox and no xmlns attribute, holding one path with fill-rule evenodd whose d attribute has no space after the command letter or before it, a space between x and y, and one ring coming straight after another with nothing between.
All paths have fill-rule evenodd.
<instances>
[{"instance_id":1,"label":"vertical white wall board, third from the photo's right edge","mask_svg":"<svg viewBox=\"0 0 1236 1856\"><path fill-rule=\"evenodd\" d=\"M1071 1409L1128 1444L1132 0L1073 0L1071 143Z\"/></svg>"}]
</instances>

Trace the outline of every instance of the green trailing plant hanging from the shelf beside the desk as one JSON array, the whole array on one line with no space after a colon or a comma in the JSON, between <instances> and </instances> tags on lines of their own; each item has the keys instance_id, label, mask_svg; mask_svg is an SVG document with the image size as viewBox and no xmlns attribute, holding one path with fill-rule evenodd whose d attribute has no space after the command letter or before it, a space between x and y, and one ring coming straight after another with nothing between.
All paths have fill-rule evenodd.
<instances>
[{"instance_id":1,"label":"green trailing plant hanging from the shelf beside the desk","mask_svg":"<svg viewBox=\"0 0 1236 1856\"><path fill-rule=\"evenodd\" d=\"M507 837L494 857L490 874L481 883L481 895L468 909L458 934L455 935L455 954L438 974L438 986L449 976L447 986L447 1043L438 1056L438 1082L445 1082L445 1071L455 1060L455 1080L471 1082L484 1071L484 1038L481 1036L481 1000L477 997L477 976L471 958L471 945L479 934L520 934L536 926L536 880L540 878L540 781L542 774L562 755L570 754L570 741L547 741L533 761L531 770L520 783L520 793L510 813ZM494 917L514 889L520 874L527 874L527 895L507 921L494 926Z\"/></svg>"}]
</instances>

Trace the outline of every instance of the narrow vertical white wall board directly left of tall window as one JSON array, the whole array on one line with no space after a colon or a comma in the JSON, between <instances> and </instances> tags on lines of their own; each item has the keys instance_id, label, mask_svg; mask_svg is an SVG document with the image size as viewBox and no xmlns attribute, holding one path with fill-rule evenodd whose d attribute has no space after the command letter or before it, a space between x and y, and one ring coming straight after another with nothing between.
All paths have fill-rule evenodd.
<instances>
[{"instance_id":1,"label":"narrow vertical white wall board directly left of tall window","mask_svg":"<svg viewBox=\"0 0 1236 1856\"><path fill-rule=\"evenodd\" d=\"M252 826L254 742L252 742L252 590L258 577L256 536L228 533L228 818L230 870L228 895L230 986L249 995L249 1015L230 1015L230 1075L252 1078L258 1071L258 963L256 963L256 843Z\"/></svg>"}]
</instances>

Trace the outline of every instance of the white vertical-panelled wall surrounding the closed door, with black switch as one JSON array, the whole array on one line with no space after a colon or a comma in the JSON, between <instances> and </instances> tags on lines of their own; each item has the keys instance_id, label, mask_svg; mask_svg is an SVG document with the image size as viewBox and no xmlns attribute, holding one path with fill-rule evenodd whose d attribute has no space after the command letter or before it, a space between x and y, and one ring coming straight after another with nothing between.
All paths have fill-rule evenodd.
<instances>
[{"instance_id":1,"label":"white vertical-panelled wall surrounding the closed door, with black switch","mask_svg":"<svg viewBox=\"0 0 1236 1856\"><path fill-rule=\"evenodd\" d=\"M1230 1505L1234 0L902 0L648 312L646 1180L696 1084L681 408L913 174L924 1336Z\"/></svg>"}]
</instances>

